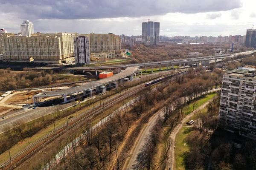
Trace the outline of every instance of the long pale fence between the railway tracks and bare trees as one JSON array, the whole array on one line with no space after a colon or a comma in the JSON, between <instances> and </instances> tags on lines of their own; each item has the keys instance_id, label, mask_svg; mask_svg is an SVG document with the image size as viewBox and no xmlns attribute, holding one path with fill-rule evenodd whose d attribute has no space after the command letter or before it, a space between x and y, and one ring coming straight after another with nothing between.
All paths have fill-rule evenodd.
<instances>
[{"instance_id":1,"label":"long pale fence between the railway tracks and bare trees","mask_svg":"<svg viewBox=\"0 0 256 170\"><path fill-rule=\"evenodd\" d=\"M95 131L99 129L99 127L102 127L106 122L108 122L116 113L119 111L124 111L126 108L130 107L131 105L136 104L138 101L140 101L140 96L136 97L135 99L131 100L128 103L125 103L122 107L118 108L116 111L102 119L99 123L94 125L90 130ZM72 142L67 144L57 155L55 155L54 158L52 158L51 161L49 161L42 170L52 170L60 161L63 159L68 153L70 153L71 150L73 150L78 144L82 141L84 141L84 138L86 137L86 133L81 134L78 138L74 139Z\"/></svg>"}]
</instances>

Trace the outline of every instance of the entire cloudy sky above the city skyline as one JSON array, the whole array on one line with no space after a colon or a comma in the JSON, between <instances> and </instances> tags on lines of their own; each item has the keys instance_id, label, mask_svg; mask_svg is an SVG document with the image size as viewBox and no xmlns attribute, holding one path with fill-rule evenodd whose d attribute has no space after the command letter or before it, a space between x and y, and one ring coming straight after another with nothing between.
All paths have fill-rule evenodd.
<instances>
[{"instance_id":1,"label":"entire cloudy sky above the city skyline","mask_svg":"<svg viewBox=\"0 0 256 170\"><path fill-rule=\"evenodd\" d=\"M141 35L141 23L160 22L160 35L245 35L256 28L256 0L0 0L0 28L20 32Z\"/></svg>"}]
</instances>

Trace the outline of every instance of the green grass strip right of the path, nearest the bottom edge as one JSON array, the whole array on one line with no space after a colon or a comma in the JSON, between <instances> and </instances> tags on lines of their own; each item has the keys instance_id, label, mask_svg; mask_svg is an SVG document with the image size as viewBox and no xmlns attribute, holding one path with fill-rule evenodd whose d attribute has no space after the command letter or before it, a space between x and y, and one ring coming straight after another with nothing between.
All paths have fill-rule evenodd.
<instances>
[{"instance_id":1,"label":"green grass strip right of the path, nearest the bottom edge","mask_svg":"<svg viewBox=\"0 0 256 170\"><path fill-rule=\"evenodd\" d=\"M191 127L182 127L175 139L175 160L176 170L185 170L186 152L189 151L189 144L186 143L186 136L192 132ZM184 144L186 145L184 146Z\"/></svg>"}]
</instances>

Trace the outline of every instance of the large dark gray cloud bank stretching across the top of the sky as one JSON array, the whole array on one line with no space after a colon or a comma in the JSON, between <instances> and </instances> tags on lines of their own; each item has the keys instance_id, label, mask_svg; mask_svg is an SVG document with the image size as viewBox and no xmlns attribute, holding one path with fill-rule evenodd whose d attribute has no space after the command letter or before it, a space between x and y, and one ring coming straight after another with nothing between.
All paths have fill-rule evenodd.
<instances>
[{"instance_id":1,"label":"large dark gray cloud bank stretching across the top of the sky","mask_svg":"<svg viewBox=\"0 0 256 170\"><path fill-rule=\"evenodd\" d=\"M0 0L0 4L2 12L19 18L98 19L227 11L240 8L241 0Z\"/></svg>"}]
</instances>

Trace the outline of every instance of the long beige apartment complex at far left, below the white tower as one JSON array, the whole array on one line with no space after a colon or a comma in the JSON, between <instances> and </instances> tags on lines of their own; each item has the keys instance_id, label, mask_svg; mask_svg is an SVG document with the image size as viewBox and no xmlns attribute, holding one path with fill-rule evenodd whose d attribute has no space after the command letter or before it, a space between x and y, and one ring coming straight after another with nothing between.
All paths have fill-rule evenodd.
<instances>
[{"instance_id":1,"label":"long beige apartment complex at far left, below the white tower","mask_svg":"<svg viewBox=\"0 0 256 170\"><path fill-rule=\"evenodd\" d=\"M32 34L0 37L4 61L67 62L74 57L77 33Z\"/></svg>"}]
</instances>

